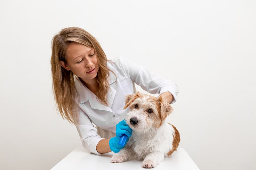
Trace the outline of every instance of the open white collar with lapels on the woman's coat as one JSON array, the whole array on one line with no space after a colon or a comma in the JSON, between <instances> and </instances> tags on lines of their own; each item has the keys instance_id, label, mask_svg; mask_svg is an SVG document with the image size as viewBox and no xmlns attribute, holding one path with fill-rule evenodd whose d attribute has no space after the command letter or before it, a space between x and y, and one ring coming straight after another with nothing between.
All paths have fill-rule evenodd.
<instances>
[{"instance_id":1,"label":"open white collar with lapels on the woman's coat","mask_svg":"<svg viewBox=\"0 0 256 170\"><path fill-rule=\"evenodd\" d=\"M108 91L108 94L107 94L108 106L101 104L97 100L96 95L92 93L87 87L85 87L83 83L79 80L79 78L76 76L75 76L75 84L76 84L76 90L80 94L80 101L79 101L80 104L83 104L89 100L90 105L93 109L107 110L107 111L113 112L111 110L111 107L116 95L116 90L111 87L111 84L116 82L118 73L109 63L107 64L108 64L108 68L116 74L115 76L111 71L109 72L108 82L110 84L110 90Z\"/></svg>"}]
</instances>

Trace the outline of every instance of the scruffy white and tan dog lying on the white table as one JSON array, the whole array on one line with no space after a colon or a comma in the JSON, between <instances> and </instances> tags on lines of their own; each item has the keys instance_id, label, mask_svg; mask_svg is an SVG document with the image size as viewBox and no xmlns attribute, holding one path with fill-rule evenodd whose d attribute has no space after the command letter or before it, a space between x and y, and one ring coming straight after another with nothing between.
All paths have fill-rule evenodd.
<instances>
[{"instance_id":1,"label":"scruffy white and tan dog lying on the white table","mask_svg":"<svg viewBox=\"0 0 256 170\"><path fill-rule=\"evenodd\" d=\"M125 121L133 130L132 136L120 152L112 156L112 163L122 163L136 157L143 160L141 167L154 168L164 157L177 150L180 143L179 131L166 117L172 107L159 98L137 92L126 95L125 106L130 108Z\"/></svg>"}]
</instances>

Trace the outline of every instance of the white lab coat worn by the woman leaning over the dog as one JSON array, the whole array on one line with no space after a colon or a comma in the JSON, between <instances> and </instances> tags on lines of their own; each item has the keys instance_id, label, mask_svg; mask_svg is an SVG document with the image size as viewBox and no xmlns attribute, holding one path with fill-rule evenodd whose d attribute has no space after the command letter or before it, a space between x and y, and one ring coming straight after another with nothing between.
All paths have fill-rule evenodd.
<instances>
[{"instance_id":1,"label":"white lab coat worn by the woman leaning over the dog","mask_svg":"<svg viewBox=\"0 0 256 170\"><path fill-rule=\"evenodd\" d=\"M110 72L108 78L110 84L107 94L108 106L101 104L94 93L75 78L76 90L80 95L79 121L76 128L84 148L98 155L100 155L96 150L98 142L103 138L114 137L116 124L128 113L128 108L123 110L125 95L136 92L134 83L152 94L171 92L174 98L172 103L176 101L178 95L177 85L150 73L137 64L117 58L108 61L107 66L116 74L115 76Z\"/></svg>"}]
</instances>

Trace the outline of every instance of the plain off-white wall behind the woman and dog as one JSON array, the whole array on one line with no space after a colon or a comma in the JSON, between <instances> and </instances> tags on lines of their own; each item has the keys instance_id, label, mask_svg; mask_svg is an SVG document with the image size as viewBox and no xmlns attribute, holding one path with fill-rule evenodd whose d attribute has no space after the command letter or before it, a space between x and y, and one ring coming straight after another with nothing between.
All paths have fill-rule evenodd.
<instances>
[{"instance_id":1,"label":"plain off-white wall behind the woman and dog","mask_svg":"<svg viewBox=\"0 0 256 170\"><path fill-rule=\"evenodd\" d=\"M51 40L69 26L96 37L108 59L179 85L169 121L201 170L256 169L255 9L254 0L1 0L0 169L51 169L81 146L52 95Z\"/></svg>"}]
</instances>

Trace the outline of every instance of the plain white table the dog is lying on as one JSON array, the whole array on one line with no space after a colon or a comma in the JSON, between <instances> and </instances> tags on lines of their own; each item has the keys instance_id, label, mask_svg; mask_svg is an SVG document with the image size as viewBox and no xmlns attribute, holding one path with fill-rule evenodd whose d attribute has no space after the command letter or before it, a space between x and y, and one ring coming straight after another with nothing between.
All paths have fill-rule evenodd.
<instances>
[{"instance_id":1,"label":"plain white table the dog is lying on","mask_svg":"<svg viewBox=\"0 0 256 170\"><path fill-rule=\"evenodd\" d=\"M79 147L69 153L64 159L56 164L51 170L143 170L140 167L142 161L133 159L124 163L111 163L110 158L114 152L95 155ZM171 170L199 170L188 153L183 148L178 148L171 156L165 157L164 161L154 169Z\"/></svg>"}]
</instances>

